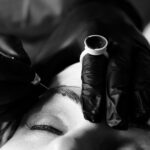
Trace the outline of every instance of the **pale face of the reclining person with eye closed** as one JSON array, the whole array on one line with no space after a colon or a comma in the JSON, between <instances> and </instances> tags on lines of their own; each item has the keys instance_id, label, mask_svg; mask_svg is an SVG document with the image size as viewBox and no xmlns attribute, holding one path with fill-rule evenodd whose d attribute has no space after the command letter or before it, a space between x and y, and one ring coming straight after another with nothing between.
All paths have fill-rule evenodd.
<instances>
[{"instance_id":1,"label":"pale face of the reclining person with eye closed","mask_svg":"<svg viewBox=\"0 0 150 150\"><path fill-rule=\"evenodd\" d=\"M137 149L138 144L132 139L142 135L143 131L118 132L104 123L93 124L84 119L79 98L80 76L80 64L58 74L50 90L24 116L16 133L2 150ZM145 133L143 135L141 139L145 138Z\"/></svg>"}]
</instances>

